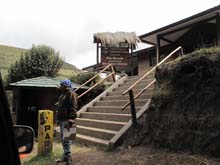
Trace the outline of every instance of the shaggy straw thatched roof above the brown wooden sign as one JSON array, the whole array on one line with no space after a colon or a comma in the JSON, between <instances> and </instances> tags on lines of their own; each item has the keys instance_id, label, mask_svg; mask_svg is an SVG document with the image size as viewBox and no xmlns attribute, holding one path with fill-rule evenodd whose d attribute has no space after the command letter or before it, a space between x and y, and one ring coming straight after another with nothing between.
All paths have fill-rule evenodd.
<instances>
[{"instance_id":1,"label":"shaggy straw thatched roof above the brown wooden sign","mask_svg":"<svg viewBox=\"0 0 220 165\"><path fill-rule=\"evenodd\" d=\"M141 42L141 40L134 32L104 32L94 34L94 43L102 43L103 46L119 46L119 43L128 43L136 46L138 42Z\"/></svg>"}]
</instances>

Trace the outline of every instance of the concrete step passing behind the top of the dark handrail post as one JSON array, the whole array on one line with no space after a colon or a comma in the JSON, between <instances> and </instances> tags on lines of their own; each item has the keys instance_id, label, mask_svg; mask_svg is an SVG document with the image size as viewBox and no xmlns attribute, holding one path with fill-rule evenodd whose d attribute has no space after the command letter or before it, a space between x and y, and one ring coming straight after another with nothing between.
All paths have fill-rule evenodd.
<instances>
[{"instance_id":1,"label":"concrete step passing behind the top of the dark handrail post","mask_svg":"<svg viewBox=\"0 0 220 165\"><path fill-rule=\"evenodd\" d=\"M142 94L138 99L150 99L152 94ZM113 95L113 96L106 96L101 98L102 101L107 101L107 100L127 100L129 101L129 96L128 95Z\"/></svg>"}]
</instances>

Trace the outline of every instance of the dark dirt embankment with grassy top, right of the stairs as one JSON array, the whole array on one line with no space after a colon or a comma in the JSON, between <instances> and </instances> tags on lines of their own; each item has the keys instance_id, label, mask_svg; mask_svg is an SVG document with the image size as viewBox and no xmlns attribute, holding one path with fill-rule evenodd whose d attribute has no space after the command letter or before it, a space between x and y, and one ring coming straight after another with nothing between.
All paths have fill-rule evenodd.
<instances>
[{"instance_id":1,"label":"dark dirt embankment with grassy top, right of the stairs","mask_svg":"<svg viewBox=\"0 0 220 165\"><path fill-rule=\"evenodd\" d=\"M125 144L220 157L220 48L164 64L156 79L141 127Z\"/></svg>"}]
</instances>

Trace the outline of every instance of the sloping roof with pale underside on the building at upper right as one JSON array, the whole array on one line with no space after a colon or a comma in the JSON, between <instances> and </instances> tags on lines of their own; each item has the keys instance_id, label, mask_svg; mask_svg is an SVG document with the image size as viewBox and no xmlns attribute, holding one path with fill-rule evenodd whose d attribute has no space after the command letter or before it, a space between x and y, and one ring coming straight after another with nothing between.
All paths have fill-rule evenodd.
<instances>
[{"instance_id":1,"label":"sloping roof with pale underside on the building at upper right","mask_svg":"<svg viewBox=\"0 0 220 165\"><path fill-rule=\"evenodd\" d=\"M216 21L213 20L212 18L214 18L219 12L220 12L220 5L210 8L208 10L205 10L203 12L200 12L191 17L185 18L183 20L180 20L178 22L156 29L149 33L143 34L139 36L139 38L143 42L149 43L151 45L157 45L158 35L164 36L164 38L167 41L175 42L182 35L184 35L188 30L190 30L192 28L192 25L195 23L199 23L201 21L207 21L209 23L216 23ZM161 40L160 45L165 46L165 45L170 44L170 42L167 42L166 40Z\"/></svg>"}]
</instances>

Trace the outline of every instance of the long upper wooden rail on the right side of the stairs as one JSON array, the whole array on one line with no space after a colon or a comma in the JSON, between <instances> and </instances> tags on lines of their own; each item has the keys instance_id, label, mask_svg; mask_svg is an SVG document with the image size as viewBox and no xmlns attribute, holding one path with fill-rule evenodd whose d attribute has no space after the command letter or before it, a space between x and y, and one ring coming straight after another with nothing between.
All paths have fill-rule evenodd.
<instances>
[{"instance_id":1,"label":"long upper wooden rail on the right side of the stairs","mask_svg":"<svg viewBox=\"0 0 220 165\"><path fill-rule=\"evenodd\" d=\"M170 58L174 53L176 53L178 50L181 50L182 47L179 46L174 51L172 51L168 56L166 56L161 62L159 62L156 66L154 66L151 70L149 70L146 74L144 74L140 79L138 79L134 84L132 84L127 90L125 90L122 94L125 95L128 93L129 90L133 89L141 80L143 80L146 76L148 76L151 72L153 72L159 65L164 63L168 58ZM182 51L181 51L182 53Z\"/></svg>"}]
</instances>

